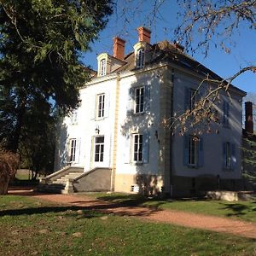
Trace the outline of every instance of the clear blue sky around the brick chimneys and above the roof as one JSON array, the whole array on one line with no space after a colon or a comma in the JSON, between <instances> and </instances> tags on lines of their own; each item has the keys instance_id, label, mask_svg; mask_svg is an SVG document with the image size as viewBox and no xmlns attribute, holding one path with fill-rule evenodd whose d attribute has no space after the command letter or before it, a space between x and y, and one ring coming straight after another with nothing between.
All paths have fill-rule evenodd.
<instances>
[{"instance_id":1,"label":"clear blue sky around the brick chimneys and above the roof","mask_svg":"<svg viewBox=\"0 0 256 256\"><path fill-rule=\"evenodd\" d=\"M127 1L125 2L127 3ZM125 53L132 50L134 44L137 43L137 27L147 26L151 29L151 43L162 41L164 39L173 41L174 29L177 26L178 6L176 1L167 0L156 16L150 12L153 9L152 0L137 0L129 6L125 5L123 0L118 1L117 9L113 15L109 17L108 26L100 33L99 39L91 44L92 51L84 54L82 61L86 65L96 69L96 56L102 52L113 54L113 40L115 36L126 40ZM138 9L136 9L138 8ZM125 9L123 13L123 9ZM125 18L127 20L125 21ZM197 37L198 35L194 35ZM229 39L229 38L225 38ZM213 72L218 73L224 79L229 78L239 71L240 67L256 64L256 33L247 28L247 24L241 24L239 30L232 36L233 43L230 54L224 52L223 49L212 45L207 57L198 51L193 57L196 61L201 62ZM233 81L241 90L247 92L256 92L256 73L244 73Z\"/></svg>"}]
</instances>

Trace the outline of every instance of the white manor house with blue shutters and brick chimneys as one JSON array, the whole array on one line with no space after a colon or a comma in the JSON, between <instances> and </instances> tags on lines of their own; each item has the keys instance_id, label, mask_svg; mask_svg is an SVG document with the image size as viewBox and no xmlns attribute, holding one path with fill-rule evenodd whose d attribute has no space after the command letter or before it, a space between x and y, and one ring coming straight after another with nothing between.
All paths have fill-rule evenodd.
<instances>
[{"instance_id":1,"label":"white manor house with blue shutters and brick chimneys","mask_svg":"<svg viewBox=\"0 0 256 256\"><path fill-rule=\"evenodd\" d=\"M80 90L80 107L60 124L55 171L45 188L195 195L235 189L241 180L241 102L233 85L221 91L220 121L195 135L171 131L163 120L193 108L193 95L207 75L220 79L183 52L179 44L150 43L139 27L138 42L125 55L113 38L113 55L97 57L98 70ZM203 84L200 90L206 90ZM208 87L207 87L208 88ZM204 91L201 91L203 94Z\"/></svg>"}]
</instances>

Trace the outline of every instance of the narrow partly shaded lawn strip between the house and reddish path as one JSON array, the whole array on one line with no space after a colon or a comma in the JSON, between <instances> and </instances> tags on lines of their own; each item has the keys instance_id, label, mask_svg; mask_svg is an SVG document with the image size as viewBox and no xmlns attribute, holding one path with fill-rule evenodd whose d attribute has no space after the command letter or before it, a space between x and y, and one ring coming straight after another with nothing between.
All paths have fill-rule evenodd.
<instances>
[{"instance_id":1,"label":"narrow partly shaded lawn strip between the house and reddish path","mask_svg":"<svg viewBox=\"0 0 256 256\"><path fill-rule=\"evenodd\" d=\"M158 200L142 195L123 193L86 193L103 201L113 201L141 207L156 207L165 210L195 212L225 218L235 218L256 223L256 201L210 201L210 200Z\"/></svg>"}]
</instances>

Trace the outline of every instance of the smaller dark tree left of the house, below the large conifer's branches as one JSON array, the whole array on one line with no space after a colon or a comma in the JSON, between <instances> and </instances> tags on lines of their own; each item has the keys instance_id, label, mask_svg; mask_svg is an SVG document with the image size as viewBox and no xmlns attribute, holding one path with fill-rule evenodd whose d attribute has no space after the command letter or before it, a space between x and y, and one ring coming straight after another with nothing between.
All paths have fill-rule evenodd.
<instances>
[{"instance_id":1,"label":"smaller dark tree left of the house, below the large conifer's branches","mask_svg":"<svg viewBox=\"0 0 256 256\"><path fill-rule=\"evenodd\" d=\"M26 111L18 153L20 168L32 170L32 179L36 179L39 173L53 172L57 122L57 111L44 102L44 98L38 97Z\"/></svg>"}]
</instances>

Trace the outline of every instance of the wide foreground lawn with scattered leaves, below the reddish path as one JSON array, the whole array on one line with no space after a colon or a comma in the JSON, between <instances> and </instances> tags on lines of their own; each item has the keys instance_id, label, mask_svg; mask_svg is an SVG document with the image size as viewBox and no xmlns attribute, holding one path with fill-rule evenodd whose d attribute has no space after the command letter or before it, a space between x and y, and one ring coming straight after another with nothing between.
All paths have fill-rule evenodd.
<instances>
[{"instance_id":1,"label":"wide foreground lawn with scattered leaves, below the reddish path","mask_svg":"<svg viewBox=\"0 0 256 256\"><path fill-rule=\"evenodd\" d=\"M256 241L0 196L0 255L256 255Z\"/></svg>"}]
</instances>

